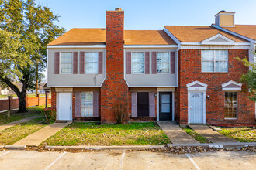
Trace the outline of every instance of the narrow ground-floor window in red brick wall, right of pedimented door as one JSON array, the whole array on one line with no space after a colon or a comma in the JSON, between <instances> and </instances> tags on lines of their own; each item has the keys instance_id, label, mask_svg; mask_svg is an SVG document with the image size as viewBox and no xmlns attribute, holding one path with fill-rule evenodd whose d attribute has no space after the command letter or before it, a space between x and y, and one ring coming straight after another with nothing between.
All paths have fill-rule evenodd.
<instances>
[{"instance_id":1,"label":"narrow ground-floor window in red brick wall, right of pedimented door","mask_svg":"<svg viewBox=\"0 0 256 170\"><path fill-rule=\"evenodd\" d=\"M237 92L225 92L225 118L237 118Z\"/></svg>"}]
</instances>

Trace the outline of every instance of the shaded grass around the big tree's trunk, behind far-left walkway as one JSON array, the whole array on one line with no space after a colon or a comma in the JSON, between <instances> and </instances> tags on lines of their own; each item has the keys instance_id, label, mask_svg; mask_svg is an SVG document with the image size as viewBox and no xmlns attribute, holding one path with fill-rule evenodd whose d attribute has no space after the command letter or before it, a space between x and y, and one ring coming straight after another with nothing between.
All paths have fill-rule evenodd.
<instances>
[{"instance_id":1,"label":"shaded grass around the big tree's trunk, behind far-left walkway","mask_svg":"<svg viewBox=\"0 0 256 170\"><path fill-rule=\"evenodd\" d=\"M17 113L17 111L13 111L11 114L10 119L7 119L7 112L0 114L0 125L1 124L8 124L12 121L18 121L20 119L31 117L31 116L38 116L42 115L41 111L43 110L44 106L39 107L29 107L27 113Z\"/></svg>"}]
</instances>

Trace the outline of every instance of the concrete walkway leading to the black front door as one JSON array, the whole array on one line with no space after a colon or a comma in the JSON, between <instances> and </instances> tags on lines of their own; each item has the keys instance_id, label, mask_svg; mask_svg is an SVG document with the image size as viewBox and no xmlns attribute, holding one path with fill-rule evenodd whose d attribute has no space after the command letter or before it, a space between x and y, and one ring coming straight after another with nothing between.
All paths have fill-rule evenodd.
<instances>
[{"instance_id":1,"label":"concrete walkway leading to the black front door","mask_svg":"<svg viewBox=\"0 0 256 170\"><path fill-rule=\"evenodd\" d=\"M189 134L182 130L174 121L157 121L157 124L170 138L173 144L198 144Z\"/></svg>"}]
</instances>

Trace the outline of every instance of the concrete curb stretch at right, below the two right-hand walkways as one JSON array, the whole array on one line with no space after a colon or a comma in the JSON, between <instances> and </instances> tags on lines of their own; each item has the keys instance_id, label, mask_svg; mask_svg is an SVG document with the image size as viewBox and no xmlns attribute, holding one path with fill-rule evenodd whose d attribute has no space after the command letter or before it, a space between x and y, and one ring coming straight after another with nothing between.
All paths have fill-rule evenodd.
<instances>
[{"instance_id":1,"label":"concrete curb stretch at right, below the two right-hand walkways","mask_svg":"<svg viewBox=\"0 0 256 170\"><path fill-rule=\"evenodd\" d=\"M168 144L171 147L209 147L209 148L243 148L248 146L256 146L256 142L230 142L230 143L209 143L209 144Z\"/></svg>"}]
</instances>

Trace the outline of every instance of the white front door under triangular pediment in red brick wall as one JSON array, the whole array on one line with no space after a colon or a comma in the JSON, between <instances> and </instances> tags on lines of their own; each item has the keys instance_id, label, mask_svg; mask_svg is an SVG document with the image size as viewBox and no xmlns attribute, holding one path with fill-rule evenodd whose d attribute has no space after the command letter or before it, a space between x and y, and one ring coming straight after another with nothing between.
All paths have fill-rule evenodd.
<instances>
[{"instance_id":1,"label":"white front door under triangular pediment in red brick wall","mask_svg":"<svg viewBox=\"0 0 256 170\"><path fill-rule=\"evenodd\" d=\"M206 123L205 96L205 92L189 92L189 124Z\"/></svg>"}]
</instances>

